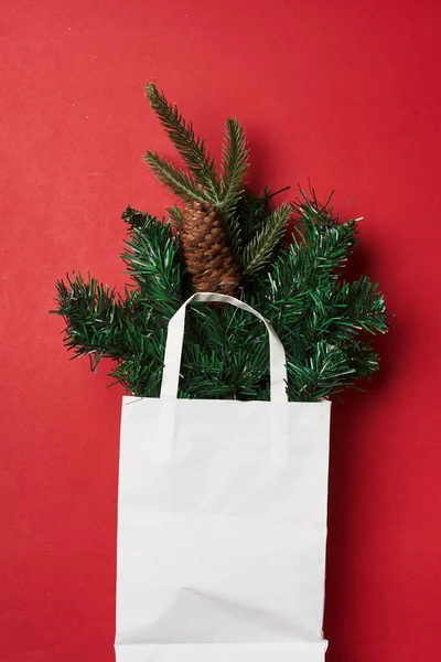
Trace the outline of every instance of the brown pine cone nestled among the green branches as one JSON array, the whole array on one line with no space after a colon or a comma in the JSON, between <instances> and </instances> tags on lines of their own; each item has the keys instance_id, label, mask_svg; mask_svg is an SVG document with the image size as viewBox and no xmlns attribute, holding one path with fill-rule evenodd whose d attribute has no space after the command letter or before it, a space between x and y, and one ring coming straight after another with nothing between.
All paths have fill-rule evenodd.
<instances>
[{"instance_id":1,"label":"brown pine cone nestled among the green branches","mask_svg":"<svg viewBox=\"0 0 441 662\"><path fill-rule=\"evenodd\" d=\"M183 214L181 244L196 291L234 297L240 286L240 271L216 209L194 202Z\"/></svg>"}]
</instances>

